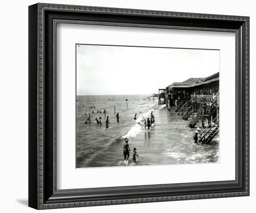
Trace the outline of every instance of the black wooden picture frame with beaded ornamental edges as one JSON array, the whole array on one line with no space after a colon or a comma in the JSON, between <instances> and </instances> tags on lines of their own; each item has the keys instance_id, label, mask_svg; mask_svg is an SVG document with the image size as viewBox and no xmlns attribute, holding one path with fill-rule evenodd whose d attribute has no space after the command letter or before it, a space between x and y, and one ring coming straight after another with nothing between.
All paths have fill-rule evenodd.
<instances>
[{"instance_id":1,"label":"black wooden picture frame with beaded ornamental edges","mask_svg":"<svg viewBox=\"0 0 256 213\"><path fill-rule=\"evenodd\" d=\"M236 180L56 189L56 24L236 33ZM36 209L249 195L249 17L84 7L29 6L29 202Z\"/></svg>"}]
</instances>

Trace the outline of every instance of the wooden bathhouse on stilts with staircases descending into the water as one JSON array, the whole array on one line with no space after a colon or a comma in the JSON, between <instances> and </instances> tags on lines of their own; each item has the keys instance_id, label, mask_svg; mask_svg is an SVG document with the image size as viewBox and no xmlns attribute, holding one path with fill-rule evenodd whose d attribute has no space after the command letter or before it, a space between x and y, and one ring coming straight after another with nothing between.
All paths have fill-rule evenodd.
<instances>
[{"instance_id":1,"label":"wooden bathhouse on stilts with staircases descending into the water","mask_svg":"<svg viewBox=\"0 0 256 213\"><path fill-rule=\"evenodd\" d=\"M201 122L204 128L200 138L202 143L209 144L219 133L219 73L175 82L161 92L161 96L165 95L168 110L175 106L180 120L188 120L187 128L194 128Z\"/></svg>"}]
</instances>

